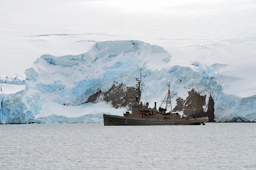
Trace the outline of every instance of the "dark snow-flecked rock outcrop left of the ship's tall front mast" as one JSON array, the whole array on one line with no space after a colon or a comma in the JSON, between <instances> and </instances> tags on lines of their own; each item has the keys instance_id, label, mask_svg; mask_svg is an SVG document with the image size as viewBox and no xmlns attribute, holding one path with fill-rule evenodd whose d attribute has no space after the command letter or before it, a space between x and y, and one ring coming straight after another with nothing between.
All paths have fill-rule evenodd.
<instances>
[{"instance_id":1,"label":"dark snow-flecked rock outcrop left of the ship's tall front mast","mask_svg":"<svg viewBox=\"0 0 256 170\"><path fill-rule=\"evenodd\" d=\"M116 109L125 107L129 104L130 100L135 100L138 96L138 91L134 87L128 87L123 83L114 84L108 91L97 91L91 95L84 103L97 103L100 101L110 102ZM83 103L83 104L84 104Z\"/></svg>"}]
</instances>

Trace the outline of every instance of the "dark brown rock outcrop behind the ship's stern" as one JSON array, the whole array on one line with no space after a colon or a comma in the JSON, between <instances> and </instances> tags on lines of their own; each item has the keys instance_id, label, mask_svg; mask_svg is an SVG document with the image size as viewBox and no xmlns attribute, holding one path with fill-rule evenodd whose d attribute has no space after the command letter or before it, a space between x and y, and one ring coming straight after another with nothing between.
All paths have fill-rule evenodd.
<instances>
[{"instance_id":1,"label":"dark brown rock outcrop behind the ship's stern","mask_svg":"<svg viewBox=\"0 0 256 170\"><path fill-rule=\"evenodd\" d=\"M194 89L188 92L188 97L186 100L182 98L177 98L177 105L173 110L181 110L181 109L196 109L193 112L189 112L190 116L208 116L209 122L215 122L214 120L214 101L212 96L209 97L208 108L207 111L204 112L203 106L205 105L205 96L199 95Z\"/></svg>"}]
</instances>

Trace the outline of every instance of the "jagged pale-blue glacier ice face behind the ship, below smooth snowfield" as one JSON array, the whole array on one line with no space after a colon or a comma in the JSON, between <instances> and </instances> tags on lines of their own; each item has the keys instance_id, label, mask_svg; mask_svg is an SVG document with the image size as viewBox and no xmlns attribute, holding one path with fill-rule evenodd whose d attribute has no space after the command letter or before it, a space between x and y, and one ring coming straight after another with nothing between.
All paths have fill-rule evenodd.
<instances>
[{"instance_id":1,"label":"jagged pale-blue glacier ice face behind the ship, below smooth snowfield","mask_svg":"<svg viewBox=\"0 0 256 170\"><path fill-rule=\"evenodd\" d=\"M225 64L169 66L172 55L157 45L136 40L88 42L93 46L85 53L45 54L25 71L26 76L1 77L0 123L102 122L103 113L122 115L127 106L114 108L100 92L106 93L114 85L135 88L140 69L146 85L141 99L151 106L161 103L170 82L175 94L172 104L177 96L185 100L194 90L205 96L204 110L212 97L216 122L256 121L256 95L240 97L225 92L232 88L221 74ZM96 92L99 96L88 102Z\"/></svg>"}]
</instances>

